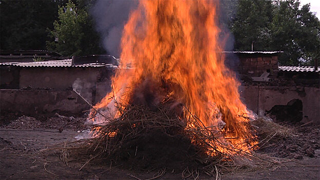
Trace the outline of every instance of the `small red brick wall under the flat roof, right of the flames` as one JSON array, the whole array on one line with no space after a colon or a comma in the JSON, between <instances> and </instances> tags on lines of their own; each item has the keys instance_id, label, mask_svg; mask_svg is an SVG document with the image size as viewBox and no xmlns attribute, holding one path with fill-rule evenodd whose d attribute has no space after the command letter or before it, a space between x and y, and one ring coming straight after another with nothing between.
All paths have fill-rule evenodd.
<instances>
[{"instance_id":1,"label":"small red brick wall under the flat roof, right of the flames","mask_svg":"<svg viewBox=\"0 0 320 180\"><path fill-rule=\"evenodd\" d=\"M259 77L267 71L270 76L277 76L278 73L278 57L240 57L240 74Z\"/></svg>"}]
</instances>

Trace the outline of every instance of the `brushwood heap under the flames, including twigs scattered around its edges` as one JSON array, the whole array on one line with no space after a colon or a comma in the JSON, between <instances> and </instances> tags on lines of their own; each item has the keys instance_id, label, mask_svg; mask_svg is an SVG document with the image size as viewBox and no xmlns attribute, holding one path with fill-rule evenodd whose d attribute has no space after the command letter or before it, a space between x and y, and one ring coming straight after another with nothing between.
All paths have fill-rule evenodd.
<instances>
[{"instance_id":1,"label":"brushwood heap under the flames, including twigs scattered around its edges","mask_svg":"<svg viewBox=\"0 0 320 180\"><path fill-rule=\"evenodd\" d=\"M182 178L197 179L200 173L205 173L218 179L221 172L282 163L253 150L266 146L279 135L290 134L286 128L261 118L251 121L247 125L253 125L252 133L263 139L252 151L245 152L224 140L223 127L205 127L187 107L180 104L183 109L175 108L174 104L177 103L167 101L151 106L116 103L118 117L102 116L106 118L104 123L92 125L92 138L65 142L62 148L42 151L54 150L66 164L85 160L79 170L90 163L138 171L158 169L157 178L171 171L181 172Z\"/></svg>"}]
</instances>

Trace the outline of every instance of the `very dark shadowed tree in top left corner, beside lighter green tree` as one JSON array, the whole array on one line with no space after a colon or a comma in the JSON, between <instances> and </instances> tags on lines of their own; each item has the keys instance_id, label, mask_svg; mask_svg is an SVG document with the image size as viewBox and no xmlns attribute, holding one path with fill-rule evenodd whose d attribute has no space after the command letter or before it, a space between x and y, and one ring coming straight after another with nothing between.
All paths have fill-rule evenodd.
<instances>
[{"instance_id":1,"label":"very dark shadowed tree in top left corner, beside lighter green tree","mask_svg":"<svg viewBox=\"0 0 320 180\"><path fill-rule=\"evenodd\" d=\"M46 49L46 29L58 17L63 1L8 1L0 3L1 49Z\"/></svg>"}]
</instances>

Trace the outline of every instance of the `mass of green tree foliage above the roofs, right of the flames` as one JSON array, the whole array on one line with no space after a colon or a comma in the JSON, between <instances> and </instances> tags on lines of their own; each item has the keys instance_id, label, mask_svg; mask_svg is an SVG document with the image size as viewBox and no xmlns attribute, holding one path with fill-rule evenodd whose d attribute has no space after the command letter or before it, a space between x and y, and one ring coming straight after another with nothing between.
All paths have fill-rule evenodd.
<instances>
[{"instance_id":1,"label":"mass of green tree foliage above the roofs, right of the flames","mask_svg":"<svg viewBox=\"0 0 320 180\"><path fill-rule=\"evenodd\" d=\"M280 64L313 65L319 58L320 23L298 0L239 0L230 28L236 50L280 50Z\"/></svg>"}]
</instances>

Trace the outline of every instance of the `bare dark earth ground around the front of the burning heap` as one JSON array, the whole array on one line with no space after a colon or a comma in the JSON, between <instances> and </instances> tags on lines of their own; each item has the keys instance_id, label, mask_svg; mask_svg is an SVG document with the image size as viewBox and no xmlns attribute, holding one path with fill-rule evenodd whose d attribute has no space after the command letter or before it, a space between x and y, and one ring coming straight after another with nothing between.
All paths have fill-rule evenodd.
<instances>
[{"instance_id":1,"label":"bare dark earth ground around the front of the burning heap","mask_svg":"<svg viewBox=\"0 0 320 180\"><path fill-rule=\"evenodd\" d=\"M137 172L117 167L109 168L89 164L81 171L83 160L69 161L68 166L53 155L40 150L57 143L76 140L80 126L71 125L72 129L12 129L10 125L2 125L0 129L0 179L147 179L156 172ZM40 126L41 127L41 126ZM68 127L68 125L66 126ZM77 129L78 128L78 129ZM314 157L304 156L273 169L257 168L224 173L221 179L320 179L320 155L316 150ZM135 177L133 177L135 176ZM200 179L216 179L200 174ZM166 172L160 179L181 179L179 172ZM193 178L191 178L193 179Z\"/></svg>"}]
</instances>

